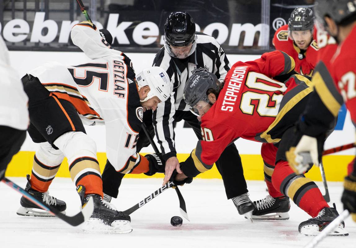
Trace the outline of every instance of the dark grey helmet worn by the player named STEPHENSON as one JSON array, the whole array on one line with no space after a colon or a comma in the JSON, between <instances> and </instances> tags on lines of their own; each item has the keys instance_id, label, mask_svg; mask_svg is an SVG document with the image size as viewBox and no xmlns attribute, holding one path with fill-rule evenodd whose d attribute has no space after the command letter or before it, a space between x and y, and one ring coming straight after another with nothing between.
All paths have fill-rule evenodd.
<instances>
[{"instance_id":1,"label":"dark grey helmet worn by the player named STEPHENSON","mask_svg":"<svg viewBox=\"0 0 356 248\"><path fill-rule=\"evenodd\" d=\"M197 72L189 77L184 86L183 98L192 109L199 101L210 103L206 92L208 89L219 90L218 78L210 72ZM195 111L194 111L195 112ZM195 114L197 114L195 112Z\"/></svg>"}]
</instances>

